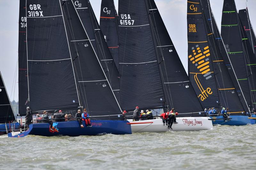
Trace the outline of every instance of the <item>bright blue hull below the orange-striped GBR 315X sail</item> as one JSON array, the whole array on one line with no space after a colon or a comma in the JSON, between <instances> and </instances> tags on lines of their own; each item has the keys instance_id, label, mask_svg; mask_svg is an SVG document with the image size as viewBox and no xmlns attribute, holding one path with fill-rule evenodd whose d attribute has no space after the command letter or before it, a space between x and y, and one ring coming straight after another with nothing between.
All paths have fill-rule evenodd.
<instances>
[{"instance_id":1,"label":"bright blue hull below the orange-striped GBR 315X sail","mask_svg":"<svg viewBox=\"0 0 256 170\"><path fill-rule=\"evenodd\" d=\"M212 119L222 119L223 116L210 116ZM230 120L225 122L225 120L213 120L212 124L219 124L219 125L229 125L229 126L241 126L247 124L255 124L255 120L248 119L248 116L230 116ZM253 121L252 121L253 120Z\"/></svg>"}]
</instances>

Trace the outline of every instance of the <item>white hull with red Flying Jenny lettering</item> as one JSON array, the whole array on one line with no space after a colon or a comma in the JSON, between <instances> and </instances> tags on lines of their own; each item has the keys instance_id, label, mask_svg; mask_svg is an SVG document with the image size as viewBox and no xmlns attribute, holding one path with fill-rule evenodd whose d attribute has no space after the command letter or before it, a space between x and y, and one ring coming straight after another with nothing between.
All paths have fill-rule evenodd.
<instances>
[{"instance_id":1,"label":"white hull with red Flying Jenny lettering","mask_svg":"<svg viewBox=\"0 0 256 170\"><path fill-rule=\"evenodd\" d=\"M172 129L164 126L162 119L151 119L135 121L128 119L131 123L132 133L136 132L166 132L166 131L196 131L212 129L210 117L177 117L177 124L172 125Z\"/></svg>"}]
</instances>

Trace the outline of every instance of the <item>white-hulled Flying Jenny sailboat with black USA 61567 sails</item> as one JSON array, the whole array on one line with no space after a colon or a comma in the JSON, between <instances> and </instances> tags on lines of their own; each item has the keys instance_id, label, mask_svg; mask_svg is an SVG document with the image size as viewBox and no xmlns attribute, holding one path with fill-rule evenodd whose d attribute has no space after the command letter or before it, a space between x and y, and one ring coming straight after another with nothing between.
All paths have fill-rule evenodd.
<instances>
[{"instance_id":1,"label":"white-hulled Flying Jenny sailboat with black USA 61567 sails","mask_svg":"<svg viewBox=\"0 0 256 170\"><path fill-rule=\"evenodd\" d=\"M120 104L127 111L175 108L178 130L212 128L153 0L119 1ZM132 132L169 130L161 119L133 122Z\"/></svg>"}]
</instances>

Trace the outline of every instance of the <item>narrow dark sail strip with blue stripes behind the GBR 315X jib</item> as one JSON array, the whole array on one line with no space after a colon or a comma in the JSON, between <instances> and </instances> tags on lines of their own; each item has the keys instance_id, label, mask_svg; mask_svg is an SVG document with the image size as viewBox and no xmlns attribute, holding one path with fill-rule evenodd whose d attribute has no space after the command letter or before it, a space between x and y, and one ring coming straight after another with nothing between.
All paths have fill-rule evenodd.
<instances>
[{"instance_id":1,"label":"narrow dark sail strip with blue stripes behind the GBR 315X jib","mask_svg":"<svg viewBox=\"0 0 256 170\"><path fill-rule=\"evenodd\" d=\"M215 37L215 41L216 41L216 43L217 43L217 45L218 45L218 47L220 49L220 53L222 55L222 58L224 60L225 65L226 65L226 67L228 69L229 76L231 77L231 80L232 80L232 82L234 84L236 92L238 93L239 99L241 100L244 109L246 111L249 111L248 105L245 102L245 98L244 98L243 92L241 91L241 88L240 88L240 85L239 85L238 80L236 78L235 72L234 72L233 67L232 67L232 65L230 63L228 53L227 53L226 48L224 46L224 43L223 43L223 41L221 39L221 35L220 35L218 26L216 24L216 21L215 21L215 18L214 18L212 9L211 9L210 1L209 0L201 0L200 2L202 3L203 9L204 9L204 13L205 13L206 18L208 20L208 23L209 23L209 25L210 25L210 27L212 29L212 33L213 33L213 35Z\"/></svg>"}]
</instances>

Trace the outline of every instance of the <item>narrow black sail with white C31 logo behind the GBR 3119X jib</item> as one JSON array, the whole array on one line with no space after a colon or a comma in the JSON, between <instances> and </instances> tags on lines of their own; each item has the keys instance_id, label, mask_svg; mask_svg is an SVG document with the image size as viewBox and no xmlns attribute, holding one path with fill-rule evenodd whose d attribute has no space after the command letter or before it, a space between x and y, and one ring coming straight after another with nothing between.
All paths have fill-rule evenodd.
<instances>
[{"instance_id":1,"label":"narrow black sail with white C31 logo behind the GBR 3119X jib","mask_svg":"<svg viewBox=\"0 0 256 170\"><path fill-rule=\"evenodd\" d=\"M84 25L87 35L92 43L92 47L95 50L101 66L108 78L108 81L113 89L113 92L119 102L119 73L116 68L116 64L113 61L113 57L109 51L108 45L101 32L99 23L94 15L92 6L89 0L78 0L74 2L76 11Z\"/></svg>"}]
</instances>

